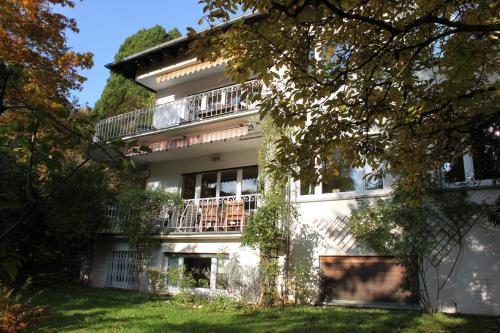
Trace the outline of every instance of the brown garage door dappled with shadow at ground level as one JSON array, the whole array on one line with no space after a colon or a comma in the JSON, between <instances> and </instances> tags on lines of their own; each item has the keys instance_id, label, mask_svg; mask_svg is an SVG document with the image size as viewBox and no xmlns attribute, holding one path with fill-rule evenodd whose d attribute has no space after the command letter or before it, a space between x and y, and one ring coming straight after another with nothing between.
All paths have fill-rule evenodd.
<instances>
[{"instance_id":1,"label":"brown garage door dappled with shadow at ground level","mask_svg":"<svg viewBox=\"0 0 500 333\"><path fill-rule=\"evenodd\" d=\"M324 302L417 303L415 279L393 257L321 256L320 268Z\"/></svg>"}]
</instances>

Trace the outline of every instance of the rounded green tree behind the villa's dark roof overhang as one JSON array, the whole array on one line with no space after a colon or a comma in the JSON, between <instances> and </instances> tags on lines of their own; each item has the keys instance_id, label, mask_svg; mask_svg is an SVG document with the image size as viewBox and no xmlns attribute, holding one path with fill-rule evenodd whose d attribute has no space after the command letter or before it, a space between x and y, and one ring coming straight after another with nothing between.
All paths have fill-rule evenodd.
<instances>
[{"instance_id":1,"label":"rounded green tree behind the villa's dark roof overhang","mask_svg":"<svg viewBox=\"0 0 500 333\"><path fill-rule=\"evenodd\" d=\"M141 29L125 39L115 55L115 61L180 36L177 28L168 32L159 25ZM111 73L101 97L95 104L95 112L101 118L130 112L150 105L154 97L154 93L146 88L119 74Z\"/></svg>"}]
</instances>

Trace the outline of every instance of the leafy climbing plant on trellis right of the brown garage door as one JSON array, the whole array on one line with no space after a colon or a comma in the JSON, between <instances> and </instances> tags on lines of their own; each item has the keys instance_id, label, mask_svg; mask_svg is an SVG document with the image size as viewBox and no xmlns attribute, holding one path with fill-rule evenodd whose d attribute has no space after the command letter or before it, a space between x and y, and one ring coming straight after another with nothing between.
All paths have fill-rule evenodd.
<instances>
[{"instance_id":1,"label":"leafy climbing plant on trellis right of the brown garage door","mask_svg":"<svg viewBox=\"0 0 500 333\"><path fill-rule=\"evenodd\" d=\"M363 201L353 210L348 226L361 247L395 255L406 268L406 287L434 312L440 292L462 255L465 236L486 217L489 208L458 191L432 193L421 202L409 205L401 194L372 203ZM458 250L453 251L455 248ZM449 269L441 266L445 260L451 261L451 266L446 266ZM432 290L426 283L429 272L435 273L437 280Z\"/></svg>"}]
</instances>

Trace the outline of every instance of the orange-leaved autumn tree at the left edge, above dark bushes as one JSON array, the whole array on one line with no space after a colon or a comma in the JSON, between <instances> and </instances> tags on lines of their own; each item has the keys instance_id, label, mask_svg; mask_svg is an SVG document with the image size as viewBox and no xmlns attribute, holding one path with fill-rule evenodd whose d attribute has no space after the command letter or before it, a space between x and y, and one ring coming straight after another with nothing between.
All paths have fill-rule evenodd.
<instances>
[{"instance_id":1,"label":"orange-leaved autumn tree at the left edge, above dark bushes","mask_svg":"<svg viewBox=\"0 0 500 333\"><path fill-rule=\"evenodd\" d=\"M52 11L55 5L74 3L0 4L0 153L24 171L22 196L15 197L18 219L2 226L0 240L32 213L37 182L61 165L63 152L92 143L91 118L70 97L81 88L85 79L78 70L92 65L92 55L66 45L65 31L78 29L74 20Z\"/></svg>"}]
</instances>

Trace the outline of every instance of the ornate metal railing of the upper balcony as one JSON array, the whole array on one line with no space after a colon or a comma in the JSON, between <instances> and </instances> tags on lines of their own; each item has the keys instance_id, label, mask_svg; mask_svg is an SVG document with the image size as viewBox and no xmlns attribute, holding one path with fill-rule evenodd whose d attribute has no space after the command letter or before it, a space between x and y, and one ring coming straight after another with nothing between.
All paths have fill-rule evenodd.
<instances>
[{"instance_id":1,"label":"ornate metal railing of the upper balcony","mask_svg":"<svg viewBox=\"0 0 500 333\"><path fill-rule=\"evenodd\" d=\"M96 140L110 141L249 110L255 107L249 97L256 92L257 81L251 81L106 118L96 125Z\"/></svg>"}]
</instances>

